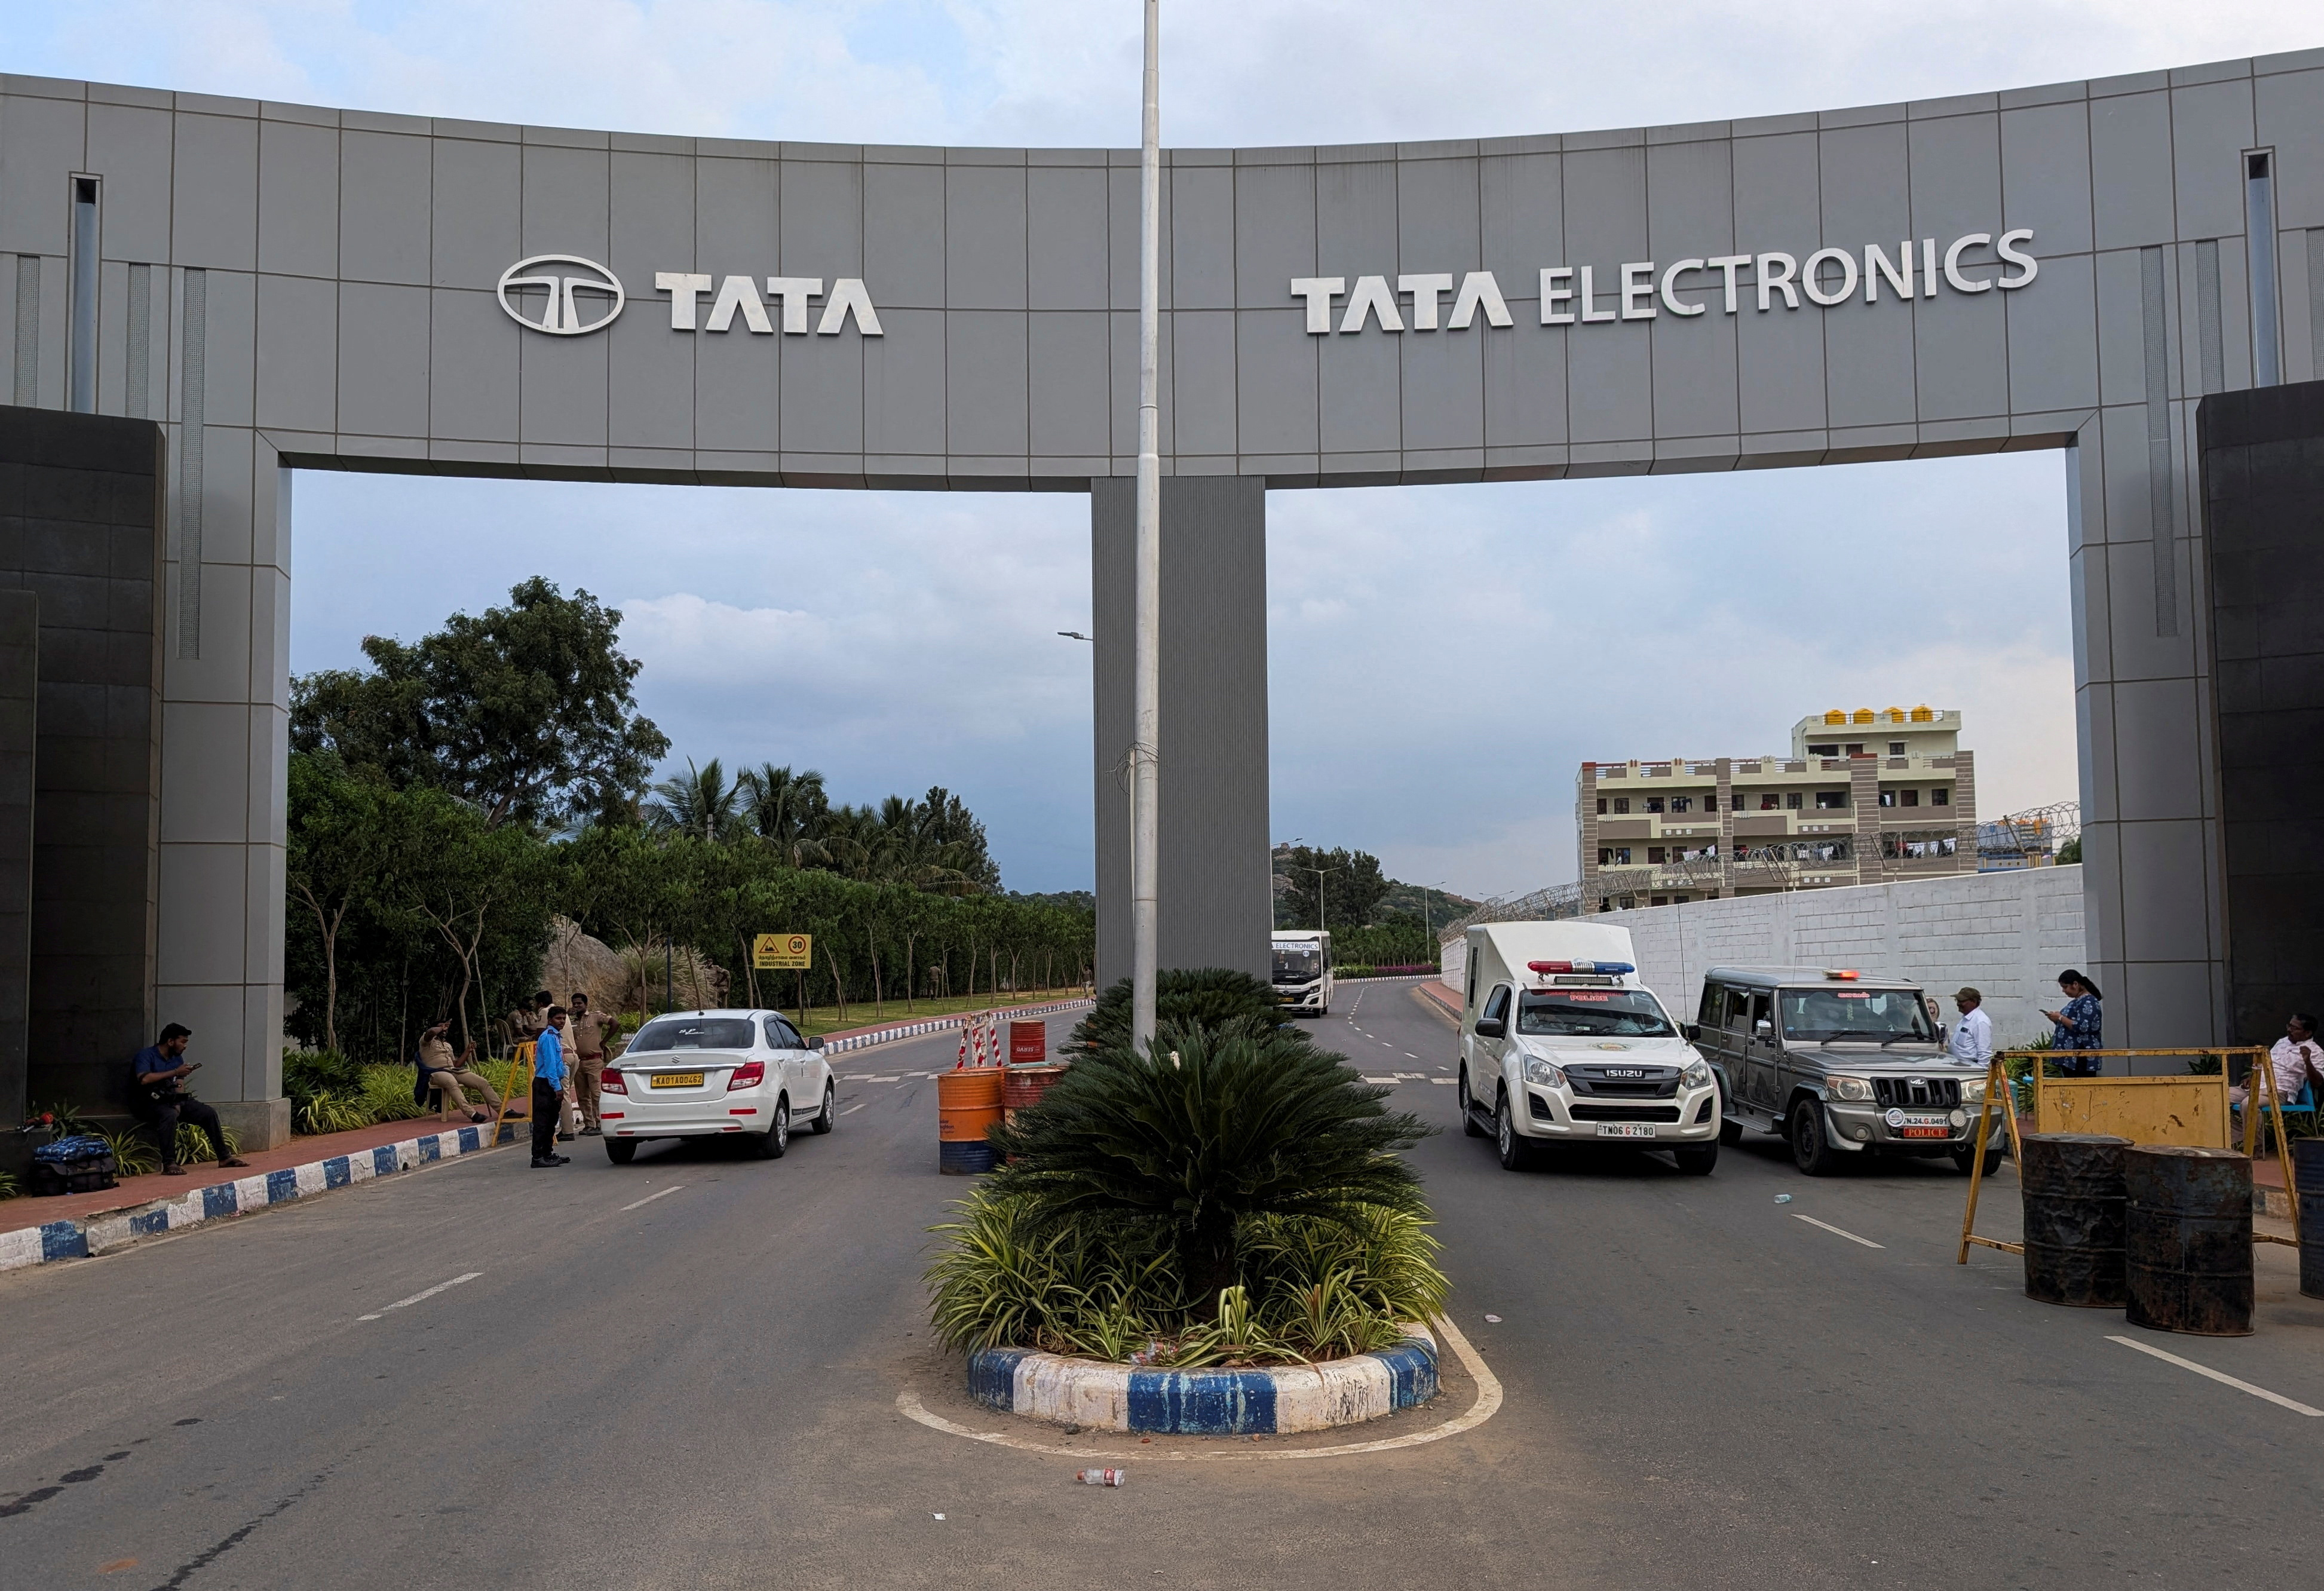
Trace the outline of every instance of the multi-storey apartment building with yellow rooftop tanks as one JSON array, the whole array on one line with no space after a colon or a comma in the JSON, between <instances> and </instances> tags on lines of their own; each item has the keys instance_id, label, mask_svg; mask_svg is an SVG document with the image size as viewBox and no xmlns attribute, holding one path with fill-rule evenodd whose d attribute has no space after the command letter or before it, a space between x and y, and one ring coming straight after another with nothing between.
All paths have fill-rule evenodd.
<instances>
[{"instance_id":1,"label":"multi-storey apartment building with yellow rooftop tanks","mask_svg":"<svg viewBox=\"0 0 2324 1591\"><path fill-rule=\"evenodd\" d=\"M1789 757L1585 762L1590 910L1978 871L1978 776L1961 715L1817 713Z\"/></svg>"}]
</instances>

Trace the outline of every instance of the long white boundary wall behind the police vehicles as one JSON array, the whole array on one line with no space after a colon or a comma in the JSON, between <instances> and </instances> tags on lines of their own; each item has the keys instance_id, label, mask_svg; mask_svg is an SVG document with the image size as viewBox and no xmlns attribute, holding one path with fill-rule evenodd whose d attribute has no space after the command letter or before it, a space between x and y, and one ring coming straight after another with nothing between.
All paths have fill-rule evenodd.
<instances>
[{"instance_id":1,"label":"long white boundary wall behind the police vehicles","mask_svg":"<svg viewBox=\"0 0 2324 1591\"><path fill-rule=\"evenodd\" d=\"M1680 1022L1694 1020L1713 966L1857 966L1922 982L1948 1027L1952 992L1971 985L1985 994L1994 1045L2022 1045L2047 1031L2040 1013L2059 971L2089 964L2080 866L1738 894L1592 922L1629 929L1638 973ZM1462 987L1466 957L1466 941L1443 945L1448 987Z\"/></svg>"}]
</instances>

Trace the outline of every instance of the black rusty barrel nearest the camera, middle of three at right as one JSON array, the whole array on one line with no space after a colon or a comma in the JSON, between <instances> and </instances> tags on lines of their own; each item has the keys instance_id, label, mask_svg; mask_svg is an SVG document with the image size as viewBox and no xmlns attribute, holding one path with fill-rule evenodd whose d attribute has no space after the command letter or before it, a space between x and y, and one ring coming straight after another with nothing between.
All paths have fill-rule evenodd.
<instances>
[{"instance_id":1,"label":"black rusty barrel nearest the camera, middle of three at right","mask_svg":"<svg viewBox=\"0 0 2324 1591\"><path fill-rule=\"evenodd\" d=\"M2122 1154L2124 1317L2203 1338L2252 1333L2252 1161L2147 1143Z\"/></svg>"}]
</instances>

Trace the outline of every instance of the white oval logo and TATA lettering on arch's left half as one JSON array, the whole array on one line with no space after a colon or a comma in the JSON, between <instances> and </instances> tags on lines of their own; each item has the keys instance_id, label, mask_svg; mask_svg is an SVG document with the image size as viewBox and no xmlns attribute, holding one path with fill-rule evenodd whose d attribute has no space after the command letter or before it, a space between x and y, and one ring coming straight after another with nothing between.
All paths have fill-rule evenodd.
<instances>
[{"instance_id":1,"label":"white oval logo and TATA lettering on arch's left half","mask_svg":"<svg viewBox=\"0 0 2324 1591\"><path fill-rule=\"evenodd\" d=\"M809 311L818 337L837 337L855 321L865 337L881 337L878 309L860 276L839 276L825 293L823 276L767 276L760 295L758 276L713 276L709 272L653 272L653 290L669 295L669 330L730 332L744 330L774 337L774 314L790 337L809 334ZM709 309L702 300L709 297ZM816 300L823 300L816 307ZM500 274L500 307L518 325L551 337L581 337L614 325L630 302L627 290L604 265L576 253L537 253Z\"/></svg>"}]
</instances>

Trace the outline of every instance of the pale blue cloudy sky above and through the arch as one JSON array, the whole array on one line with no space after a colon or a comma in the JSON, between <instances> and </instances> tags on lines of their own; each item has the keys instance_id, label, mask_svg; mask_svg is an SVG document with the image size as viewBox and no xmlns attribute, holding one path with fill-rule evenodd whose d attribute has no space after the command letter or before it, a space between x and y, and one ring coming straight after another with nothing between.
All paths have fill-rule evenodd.
<instances>
[{"instance_id":1,"label":"pale blue cloudy sky above and through the arch","mask_svg":"<svg viewBox=\"0 0 2324 1591\"><path fill-rule=\"evenodd\" d=\"M2312 2L1167 0L1164 139L1708 121L2324 44ZM0 70L653 132L1132 144L1134 0L51 0ZM535 571L627 615L679 755L946 783L1018 890L1090 883L1081 497L300 476L293 667ZM1499 894L1573 876L1583 757L1959 706L1989 811L2071 799L2057 455L1278 492L1274 827ZM1515 660L1527 711L1455 690ZM1548 711L1543 711L1548 708Z\"/></svg>"}]
</instances>

